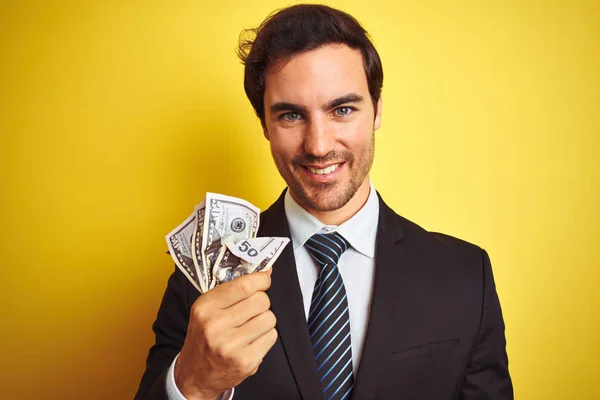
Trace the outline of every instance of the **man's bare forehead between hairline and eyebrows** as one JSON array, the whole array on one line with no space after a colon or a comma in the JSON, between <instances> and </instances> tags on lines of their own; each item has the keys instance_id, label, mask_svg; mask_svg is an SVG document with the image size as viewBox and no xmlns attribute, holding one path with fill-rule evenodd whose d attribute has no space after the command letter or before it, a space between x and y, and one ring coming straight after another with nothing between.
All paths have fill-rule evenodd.
<instances>
[{"instance_id":1,"label":"man's bare forehead between hairline and eyebrows","mask_svg":"<svg viewBox=\"0 0 600 400\"><path fill-rule=\"evenodd\" d=\"M360 50L325 45L275 64L265 74L265 109L275 102L318 107L339 96L369 89Z\"/></svg>"}]
</instances>

